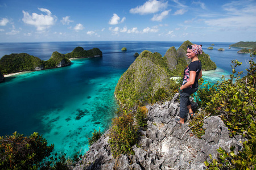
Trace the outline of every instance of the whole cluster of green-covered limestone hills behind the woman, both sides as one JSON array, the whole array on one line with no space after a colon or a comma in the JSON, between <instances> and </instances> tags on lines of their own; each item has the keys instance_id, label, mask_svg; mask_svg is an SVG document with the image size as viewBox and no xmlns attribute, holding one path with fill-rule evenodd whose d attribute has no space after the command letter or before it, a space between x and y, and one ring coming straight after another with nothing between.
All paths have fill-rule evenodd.
<instances>
[{"instance_id":1,"label":"whole cluster of green-covered limestone hills behind the woman, both sides","mask_svg":"<svg viewBox=\"0 0 256 170\"><path fill-rule=\"evenodd\" d=\"M188 45L192 43L185 41L178 50L171 47L164 57L147 50L139 54L115 87L114 94L119 103L130 108L138 104L171 99L180 86L170 79L171 76L181 76L184 68L191 62L186 57ZM208 54L199 55L199 59L203 70L216 69L216 64L210 60Z\"/></svg>"}]
</instances>

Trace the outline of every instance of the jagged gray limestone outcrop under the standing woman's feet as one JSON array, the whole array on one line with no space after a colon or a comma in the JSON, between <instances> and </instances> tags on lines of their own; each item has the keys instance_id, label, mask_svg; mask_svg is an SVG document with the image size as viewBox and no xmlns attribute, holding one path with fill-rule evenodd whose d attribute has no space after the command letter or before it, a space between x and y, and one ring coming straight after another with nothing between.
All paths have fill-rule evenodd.
<instances>
[{"instance_id":1,"label":"jagged gray limestone outcrop under the standing woman's feet","mask_svg":"<svg viewBox=\"0 0 256 170\"><path fill-rule=\"evenodd\" d=\"M241 150L241 142L245 139L241 136L229 138L228 128L220 117L204 120L205 135L202 139L187 131L188 124L176 124L178 97L176 94L172 101L163 105L147 106L147 130L140 131L140 147L132 147L134 155L121 155L114 160L108 144L109 131L106 131L74 169L206 169L204 161L210 162L209 154L216 158L218 147L229 151L233 145L236 151Z\"/></svg>"}]
</instances>

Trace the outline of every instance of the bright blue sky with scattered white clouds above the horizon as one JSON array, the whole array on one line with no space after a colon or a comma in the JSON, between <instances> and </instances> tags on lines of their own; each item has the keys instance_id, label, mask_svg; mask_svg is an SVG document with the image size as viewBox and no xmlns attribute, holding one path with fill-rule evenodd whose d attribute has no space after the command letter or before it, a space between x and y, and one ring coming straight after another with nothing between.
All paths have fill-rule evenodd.
<instances>
[{"instance_id":1,"label":"bright blue sky with scattered white clouds above the horizon","mask_svg":"<svg viewBox=\"0 0 256 170\"><path fill-rule=\"evenodd\" d=\"M255 8L255 0L0 0L0 42L256 41Z\"/></svg>"}]
</instances>

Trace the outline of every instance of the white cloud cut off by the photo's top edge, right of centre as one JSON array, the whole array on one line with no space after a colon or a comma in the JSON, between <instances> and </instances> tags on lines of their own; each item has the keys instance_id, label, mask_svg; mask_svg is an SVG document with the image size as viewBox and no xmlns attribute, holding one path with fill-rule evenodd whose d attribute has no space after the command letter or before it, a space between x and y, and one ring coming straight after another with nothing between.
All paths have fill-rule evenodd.
<instances>
[{"instance_id":1,"label":"white cloud cut off by the photo's top edge, right of centre","mask_svg":"<svg viewBox=\"0 0 256 170\"><path fill-rule=\"evenodd\" d=\"M168 5L167 2L157 1L157 0L149 0L145 2L142 6L137 6L135 8L130 9L131 14L154 14L160 10L163 10Z\"/></svg>"}]
</instances>

